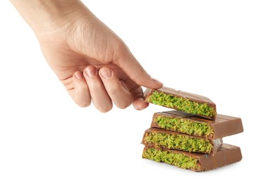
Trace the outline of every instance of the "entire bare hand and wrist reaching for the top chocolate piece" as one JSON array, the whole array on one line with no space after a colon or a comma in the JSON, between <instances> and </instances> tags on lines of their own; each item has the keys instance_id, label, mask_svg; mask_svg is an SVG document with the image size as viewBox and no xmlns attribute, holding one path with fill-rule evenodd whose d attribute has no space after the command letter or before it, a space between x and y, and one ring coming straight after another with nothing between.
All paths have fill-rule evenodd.
<instances>
[{"instance_id":1,"label":"entire bare hand and wrist reaching for the top chocolate piece","mask_svg":"<svg viewBox=\"0 0 256 183\"><path fill-rule=\"evenodd\" d=\"M44 57L81 107L147 108L143 87L159 89L128 46L78 0L10 0L35 32Z\"/></svg>"}]
</instances>

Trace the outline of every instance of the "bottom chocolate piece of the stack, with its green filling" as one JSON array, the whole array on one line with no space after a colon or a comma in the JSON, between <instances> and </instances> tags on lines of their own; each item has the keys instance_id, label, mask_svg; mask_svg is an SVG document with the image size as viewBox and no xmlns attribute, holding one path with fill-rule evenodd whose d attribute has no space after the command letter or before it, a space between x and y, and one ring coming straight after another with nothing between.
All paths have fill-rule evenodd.
<instances>
[{"instance_id":1,"label":"bottom chocolate piece of the stack, with its green filling","mask_svg":"<svg viewBox=\"0 0 256 183\"><path fill-rule=\"evenodd\" d=\"M242 159L242 153L238 146L230 144L222 144L221 148L214 156L211 154L188 153L185 151L145 146L142 158L168 163L183 169L202 172L236 163Z\"/></svg>"}]
</instances>

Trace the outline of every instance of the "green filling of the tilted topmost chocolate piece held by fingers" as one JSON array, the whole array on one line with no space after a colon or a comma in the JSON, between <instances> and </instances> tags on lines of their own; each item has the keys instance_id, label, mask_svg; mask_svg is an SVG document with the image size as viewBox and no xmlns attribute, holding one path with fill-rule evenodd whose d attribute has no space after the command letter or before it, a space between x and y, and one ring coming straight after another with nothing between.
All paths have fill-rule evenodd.
<instances>
[{"instance_id":1,"label":"green filling of the tilted topmost chocolate piece held by fingers","mask_svg":"<svg viewBox=\"0 0 256 183\"><path fill-rule=\"evenodd\" d=\"M159 106L165 106L167 108L174 108L185 113L204 115L214 118L217 113L212 106L207 103L199 103L197 101L190 101L183 97L173 96L171 94L165 94L164 92L154 91L147 97L147 101Z\"/></svg>"}]
</instances>

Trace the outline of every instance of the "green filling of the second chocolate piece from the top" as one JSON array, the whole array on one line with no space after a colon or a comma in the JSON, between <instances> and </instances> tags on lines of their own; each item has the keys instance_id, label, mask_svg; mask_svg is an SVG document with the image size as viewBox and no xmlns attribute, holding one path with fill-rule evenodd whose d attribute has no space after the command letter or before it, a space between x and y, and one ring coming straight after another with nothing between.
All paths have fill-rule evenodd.
<instances>
[{"instance_id":1,"label":"green filling of the second chocolate piece from the top","mask_svg":"<svg viewBox=\"0 0 256 183\"><path fill-rule=\"evenodd\" d=\"M185 118L169 118L165 116L158 116L155 122L163 129L175 130L184 134L205 135L207 137L212 137L214 134L211 125L206 122L195 122Z\"/></svg>"}]
</instances>

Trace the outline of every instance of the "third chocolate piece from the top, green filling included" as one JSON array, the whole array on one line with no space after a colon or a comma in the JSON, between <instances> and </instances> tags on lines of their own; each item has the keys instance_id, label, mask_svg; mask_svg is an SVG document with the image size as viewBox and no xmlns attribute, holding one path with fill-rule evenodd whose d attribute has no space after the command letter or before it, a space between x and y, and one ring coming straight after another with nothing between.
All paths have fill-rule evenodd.
<instances>
[{"instance_id":1,"label":"third chocolate piece from the top, green filling included","mask_svg":"<svg viewBox=\"0 0 256 183\"><path fill-rule=\"evenodd\" d=\"M145 131L142 144L166 149L214 154L219 150L222 139L207 139L152 127Z\"/></svg>"}]
</instances>

